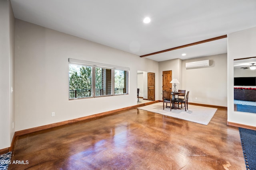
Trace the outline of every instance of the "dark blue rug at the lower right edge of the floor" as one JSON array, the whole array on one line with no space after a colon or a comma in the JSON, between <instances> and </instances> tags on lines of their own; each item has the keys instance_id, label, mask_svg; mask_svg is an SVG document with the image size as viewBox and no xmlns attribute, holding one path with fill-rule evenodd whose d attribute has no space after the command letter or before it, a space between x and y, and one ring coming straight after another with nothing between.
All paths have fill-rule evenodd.
<instances>
[{"instance_id":1,"label":"dark blue rug at the lower right edge of the floor","mask_svg":"<svg viewBox=\"0 0 256 170\"><path fill-rule=\"evenodd\" d=\"M247 170L256 170L256 131L239 127Z\"/></svg>"}]
</instances>

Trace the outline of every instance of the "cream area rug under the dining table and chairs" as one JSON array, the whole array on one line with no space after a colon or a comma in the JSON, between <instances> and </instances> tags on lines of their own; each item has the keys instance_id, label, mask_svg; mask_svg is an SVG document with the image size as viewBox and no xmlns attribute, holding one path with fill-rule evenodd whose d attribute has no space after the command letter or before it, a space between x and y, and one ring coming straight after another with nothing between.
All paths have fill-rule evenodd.
<instances>
[{"instance_id":1,"label":"cream area rug under the dining table and chairs","mask_svg":"<svg viewBox=\"0 0 256 170\"><path fill-rule=\"evenodd\" d=\"M154 113L159 113L171 117L176 117L179 119L184 119L187 121L192 121L203 125L208 125L208 123L214 116L215 112L217 111L216 108L194 105L188 105L187 111L185 111L184 107L182 109L172 109L172 111L170 111L170 107L164 107L163 109L162 102L150 104L148 106L138 107L138 109L151 111Z\"/></svg>"}]
</instances>

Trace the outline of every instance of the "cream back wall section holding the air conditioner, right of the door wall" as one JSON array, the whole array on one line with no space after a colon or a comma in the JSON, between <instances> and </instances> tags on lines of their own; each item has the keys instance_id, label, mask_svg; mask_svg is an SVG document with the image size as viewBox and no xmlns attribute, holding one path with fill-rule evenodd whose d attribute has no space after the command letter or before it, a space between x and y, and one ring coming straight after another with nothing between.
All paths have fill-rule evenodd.
<instances>
[{"instance_id":1,"label":"cream back wall section holding the air conditioner, right of the door wall","mask_svg":"<svg viewBox=\"0 0 256 170\"><path fill-rule=\"evenodd\" d=\"M186 63L201 60L210 60L210 66L186 69ZM189 102L227 106L227 54L184 60L182 83L190 91Z\"/></svg>"}]
</instances>

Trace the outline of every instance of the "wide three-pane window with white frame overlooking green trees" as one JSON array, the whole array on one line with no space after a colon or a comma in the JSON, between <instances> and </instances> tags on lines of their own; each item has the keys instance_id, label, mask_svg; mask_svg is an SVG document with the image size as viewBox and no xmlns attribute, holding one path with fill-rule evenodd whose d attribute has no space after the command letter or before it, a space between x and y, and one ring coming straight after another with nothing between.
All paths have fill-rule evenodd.
<instances>
[{"instance_id":1,"label":"wide three-pane window with white frame overlooking green trees","mask_svg":"<svg viewBox=\"0 0 256 170\"><path fill-rule=\"evenodd\" d=\"M69 59L69 99L128 94L128 70Z\"/></svg>"}]
</instances>

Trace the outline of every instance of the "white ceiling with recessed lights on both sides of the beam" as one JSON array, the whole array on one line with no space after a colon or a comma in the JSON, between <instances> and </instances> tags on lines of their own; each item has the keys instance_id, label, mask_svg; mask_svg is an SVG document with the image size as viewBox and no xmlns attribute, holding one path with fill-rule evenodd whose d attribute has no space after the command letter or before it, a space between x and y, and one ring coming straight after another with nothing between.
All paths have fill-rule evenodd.
<instances>
[{"instance_id":1,"label":"white ceiling with recessed lights on both sides of the beam","mask_svg":"<svg viewBox=\"0 0 256 170\"><path fill-rule=\"evenodd\" d=\"M15 18L146 55L256 26L256 0L11 0ZM151 22L143 23L145 17ZM182 56L186 53L186 56ZM146 58L227 53L227 38Z\"/></svg>"}]
</instances>

